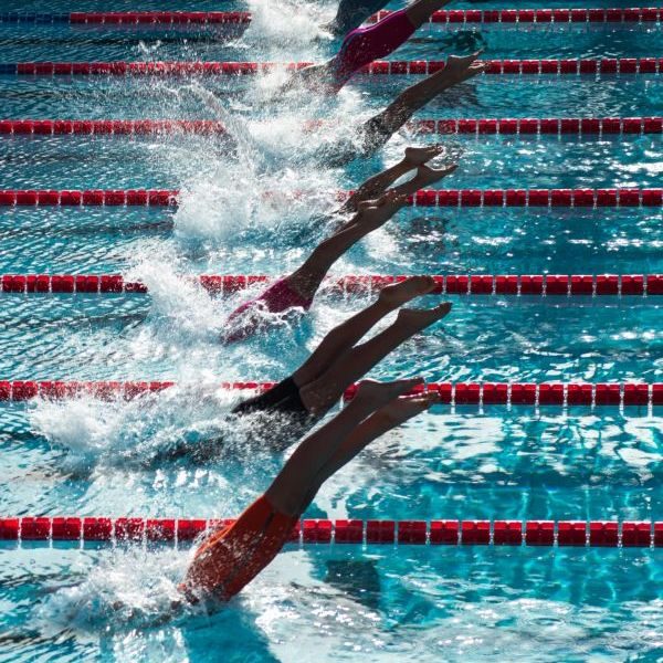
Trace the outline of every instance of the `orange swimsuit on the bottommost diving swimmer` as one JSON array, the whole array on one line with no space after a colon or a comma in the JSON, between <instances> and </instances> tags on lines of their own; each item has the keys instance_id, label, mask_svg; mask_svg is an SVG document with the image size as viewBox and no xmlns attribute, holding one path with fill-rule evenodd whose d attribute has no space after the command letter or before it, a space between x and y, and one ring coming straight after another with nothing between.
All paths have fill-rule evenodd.
<instances>
[{"instance_id":1,"label":"orange swimsuit on the bottommost diving swimmer","mask_svg":"<svg viewBox=\"0 0 663 663\"><path fill-rule=\"evenodd\" d=\"M200 591L230 600L276 557L298 519L278 513L262 495L233 525L202 543L180 590L191 602Z\"/></svg>"}]
</instances>

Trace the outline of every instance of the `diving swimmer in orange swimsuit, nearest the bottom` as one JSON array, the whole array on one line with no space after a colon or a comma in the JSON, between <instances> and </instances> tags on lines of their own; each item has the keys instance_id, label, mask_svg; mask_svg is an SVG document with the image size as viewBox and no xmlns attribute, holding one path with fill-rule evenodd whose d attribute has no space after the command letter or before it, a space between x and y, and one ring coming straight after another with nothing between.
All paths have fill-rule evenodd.
<instances>
[{"instance_id":1,"label":"diving swimmer in orange swimsuit, nearest the bottom","mask_svg":"<svg viewBox=\"0 0 663 663\"><path fill-rule=\"evenodd\" d=\"M290 539L327 478L370 442L439 399L432 392L403 396L420 383L362 382L343 411L302 441L271 486L233 525L203 540L179 587L188 601L228 601L251 582Z\"/></svg>"}]
</instances>

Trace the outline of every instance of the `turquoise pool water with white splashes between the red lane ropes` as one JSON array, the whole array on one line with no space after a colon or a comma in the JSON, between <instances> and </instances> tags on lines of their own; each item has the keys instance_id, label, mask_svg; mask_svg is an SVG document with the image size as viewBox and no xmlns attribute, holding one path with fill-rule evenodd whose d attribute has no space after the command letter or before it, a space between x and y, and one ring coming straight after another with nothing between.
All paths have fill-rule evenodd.
<instances>
[{"instance_id":1,"label":"turquoise pool water with white splashes between the red lane ropes","mask_svg":"<svg viewBox=\"0 0 663 663\"><path fill-rule=\"evenodd\" d=\"M494 8L459 2L454 8ZM581 7L582 2L530 6ZM613 2L628 7L629 2ZM327 11L259 2L243 35L0 25L0 63L20 60L313 60ZM76 10L134 3L77 2ZM141 9L162 9L143 2ZM234 2L169 9L246 9ZM53 11L61 0L2 3ZM214 39L211 39L214 36ZM217 39L218 38L218 39ZM660 55L660 27L423 31L399 59L486 46L487 57ZM123 272L149 296L0 297L1 379L175 379L141 402L0 404L0 513L223 517L266 487L282 457L228 430L221 379L275 379L369 299L322 293L305 320L231 348L217 337L245 295L212 299L186 274L297 265L328 231L315 217L393 162L396 136L345 169L312 162L302 118L327 137L369 116L410 80L359 80L338 99L267 103L272 80L204 80L214 115L186 80L0 76L11 118L199 118L222 138L3 137L0 188L183 190L177 211L0 209L0 273ZM441 97L420 117L631 116L661 113L655 76L493 77ZM449 138L461 167L442 186L656 187L660 136ZM288 192L311 194L298 200ZM266 191L283 191L265 201ZM346 273L661 273L659 210L407 210L334 267ZM427 303L433 304L435 297ZM661 305L653 298L454 297L444 326L412 339L372 376L427 380L661 381ZM219 456L160 460L182 440L221 434ZM435 408L379 440L324 486L311 517L662 519L661 412L606 408ZM659 661L660 550L286 547L212 615L172 615L188 550L24 544L0 547L0 661ZM307 654L307 652L312 652Z\"/></svg>"}]
</instances>

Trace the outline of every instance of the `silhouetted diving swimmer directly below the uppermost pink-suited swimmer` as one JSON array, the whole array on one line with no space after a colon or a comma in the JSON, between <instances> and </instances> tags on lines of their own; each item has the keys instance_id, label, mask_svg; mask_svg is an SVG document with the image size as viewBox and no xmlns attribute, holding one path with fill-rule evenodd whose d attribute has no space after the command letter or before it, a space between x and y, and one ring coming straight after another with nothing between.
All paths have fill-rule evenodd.
<instances>
[{"instance_id":1,"label":"silhouetted diving swimmer directly below the uppermost pink-suited swimmer","mask_svg":"<svg viewBox=\"0 0 663 663\"><path fill-rule=\"evenodd\" d=\"M408 87L385 110L360 125L350 138L322 145L316 159L320 165L339 168L358 157L372 156L417 110L450 87L483 73L487 65L476 61L481 53L476 51L463 57L450 55L444 69Z\"/></svg>"}]
</instances>

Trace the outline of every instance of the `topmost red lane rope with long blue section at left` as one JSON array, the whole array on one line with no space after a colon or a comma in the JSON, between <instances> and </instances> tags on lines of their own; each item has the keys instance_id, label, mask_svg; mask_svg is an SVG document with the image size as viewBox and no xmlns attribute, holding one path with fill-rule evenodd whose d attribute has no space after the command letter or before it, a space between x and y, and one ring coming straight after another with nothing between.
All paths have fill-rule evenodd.
<instances>
[{"instance_id":1,"label":"topmost red lane rope with long blue section at left","mask_svg":"<svg viewBox=\"0 0 663 663\"><path fill-rule=\"evenodd\" d=\"M390 11L380 11L369 19L376 22L388 17ZM655 23L663 12L659 7L587 8L587 9L502 9L440 10L430 22L436 24L457 23ZM130 11L130 12L62 12L62 13L0 13L0 23L67 23L71 25L215 25L251 22L251 13L244 11Z\"/></svg>"}]
</instances>

